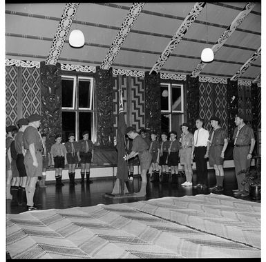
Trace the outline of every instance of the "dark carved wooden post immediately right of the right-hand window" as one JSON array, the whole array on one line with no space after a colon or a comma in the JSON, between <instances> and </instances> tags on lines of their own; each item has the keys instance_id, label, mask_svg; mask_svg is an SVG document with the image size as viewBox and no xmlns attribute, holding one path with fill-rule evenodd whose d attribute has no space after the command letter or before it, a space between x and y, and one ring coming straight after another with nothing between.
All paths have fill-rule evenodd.
<instances>
[{"instance_id":1,"label":"dark carved wooden post immediately right of the right-hand window","mask_svg":"<svg viewBox=\"0 0 266 262\"><path fill-rule=\"evenodd\" d=\"M200 90L198 77L187 75L187 123L195 130L195 121L200 114Z\"/></svg>"}]
</instances>

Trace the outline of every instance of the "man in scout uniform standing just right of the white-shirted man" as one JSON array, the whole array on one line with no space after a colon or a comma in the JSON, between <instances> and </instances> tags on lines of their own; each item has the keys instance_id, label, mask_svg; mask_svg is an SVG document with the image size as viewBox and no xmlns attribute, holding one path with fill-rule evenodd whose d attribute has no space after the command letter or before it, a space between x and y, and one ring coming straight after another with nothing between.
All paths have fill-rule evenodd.
<instances>
[{"instance_id":1,"label":"man in scout uniform standing just right of the white-shirted man","mask_svg":"<svg viewBox=\"0 0 266 262\"><path fill-rule=\"evenodd\" d=\"M213 192L222 192L224 190L222 184L225 176L222 165L225 159L225 150L228 145L227 134L225 130L220 127L220 119L218 117L212 116L210 121L213 130L211 130L208 139L207 156L209 157L209 165L213 166L216 174L216 185L209 188L209 190L213 190Z\"/></svg>"}]
</instances>

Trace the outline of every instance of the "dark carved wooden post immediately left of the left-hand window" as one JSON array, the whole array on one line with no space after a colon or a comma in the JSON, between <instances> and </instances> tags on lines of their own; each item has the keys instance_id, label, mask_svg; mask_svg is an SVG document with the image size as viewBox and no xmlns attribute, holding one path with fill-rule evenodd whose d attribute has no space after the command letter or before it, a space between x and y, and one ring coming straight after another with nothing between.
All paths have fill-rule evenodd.
<instances>
[{"instance_id":1,"label":"dark carved wooden post immediately left of the left-hand window","mask_svg":"<svg viewBox=\"0 0 266 262\"><path fill-rule=\"evenodd\" d=\"M62 132L60 63L41 62L41 132L46 133L47 148L55 143L55 134Z\"/></svg>"}]
</instances>

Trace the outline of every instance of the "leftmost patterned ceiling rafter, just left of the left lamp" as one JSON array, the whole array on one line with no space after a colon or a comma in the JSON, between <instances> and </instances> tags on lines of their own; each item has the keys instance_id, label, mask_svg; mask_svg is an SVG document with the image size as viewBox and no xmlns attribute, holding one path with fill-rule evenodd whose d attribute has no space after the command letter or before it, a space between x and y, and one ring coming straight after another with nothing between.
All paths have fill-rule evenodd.
<instances>
[{"instance_id":1,"label":"leftmost patterned ceiling rafter, just left of the left lamp","mask_svg":"<svg viewBox=\"0 0 266 262\"><path fill-rule=\"evenodd\" d=\"M46 64L55 65L57 63L78 7L79 3L66 3L52 46L48 52Z\"/></svg>"}]
</instances>

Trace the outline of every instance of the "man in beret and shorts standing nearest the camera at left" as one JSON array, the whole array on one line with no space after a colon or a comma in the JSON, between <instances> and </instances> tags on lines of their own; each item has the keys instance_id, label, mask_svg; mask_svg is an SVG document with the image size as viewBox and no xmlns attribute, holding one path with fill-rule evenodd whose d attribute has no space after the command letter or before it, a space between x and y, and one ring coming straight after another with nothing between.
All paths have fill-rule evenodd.
<instances>
[{"instance_id":1,"label":"man in beret and shorts standing nearest the camera at left","mask_svg":"<svg viewBox=\"0 0 266 262\"><path fill-rule=\"evenodd\" d=\"M33 203L36 183L42 172L41 150L43 148L41 134L37 128L41 125L41 116L39 114L31 114L28 117L28 127L23 132L23 145L26 150L24 157L24 165L27 172L26 196L28 210L36 210Z\"/></svg>"}]
</instances>

